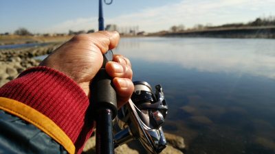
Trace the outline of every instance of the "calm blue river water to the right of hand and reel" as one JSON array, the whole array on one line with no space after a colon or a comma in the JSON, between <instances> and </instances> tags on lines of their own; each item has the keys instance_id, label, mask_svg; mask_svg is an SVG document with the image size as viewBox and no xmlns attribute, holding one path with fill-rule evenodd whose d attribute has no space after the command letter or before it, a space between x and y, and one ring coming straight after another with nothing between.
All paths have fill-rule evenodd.
<instances>
[{"instance_id":1,"label":"calm blue river water to the right of hand and reel","mask_svg":"<svg viewBox=\"0 0 275 154\"><path fill-rule=\"evenodd\" d=\"M275 153L275 40L122 38L114 52L164 86L185 153Z\"/></svg>"}]
</instances>

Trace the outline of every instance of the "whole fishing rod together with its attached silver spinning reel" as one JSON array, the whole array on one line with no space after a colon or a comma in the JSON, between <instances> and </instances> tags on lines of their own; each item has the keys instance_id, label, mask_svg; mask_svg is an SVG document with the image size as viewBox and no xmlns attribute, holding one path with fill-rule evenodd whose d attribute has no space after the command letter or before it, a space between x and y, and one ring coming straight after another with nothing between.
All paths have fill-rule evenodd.
<instances>
[{"instance_id":1,"label":"whole fishing rod together with its attached silver spinning reel","mask_svg":"<svg viewBox=\"0 0 275 154\"><path fill-rule=\"evenodd\" d=\"M107 5L112 2L104 0ZM104 30L102 0L99 0L98 30ZM102 67L90 86L91 109L96 120L96 153L113 154L114 148L135 139L140 140L148 153L160 153L166 148L162 125L168 110L162 86L155 86L154 94L146 81L133 82L131 99L117 110L115 88L105 70L106 63L113 60L113 51L107 51L103 57ZM113 134L115 117L120 130Z\"/></svg>"}]
</instances>

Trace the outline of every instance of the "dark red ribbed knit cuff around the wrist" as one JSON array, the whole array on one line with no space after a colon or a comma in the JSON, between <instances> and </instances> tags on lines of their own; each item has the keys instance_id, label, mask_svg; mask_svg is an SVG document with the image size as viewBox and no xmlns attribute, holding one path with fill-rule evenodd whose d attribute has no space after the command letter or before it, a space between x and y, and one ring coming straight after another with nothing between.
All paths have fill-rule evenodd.
<instances>
[{"instance_id":1,"label":"dark red ribbed knit cuff around the wrist","mask_svg":"<svg viewBox=\"0 0 275 154\"><path fill-rule=\"evenodd\" d=\"M52 68L25 70L0 88L0 97L25 103L49 117L63 129L81 153L91 136L93 120L87 116L89 99L69 77Z\"/></svg>"}]
</instances>

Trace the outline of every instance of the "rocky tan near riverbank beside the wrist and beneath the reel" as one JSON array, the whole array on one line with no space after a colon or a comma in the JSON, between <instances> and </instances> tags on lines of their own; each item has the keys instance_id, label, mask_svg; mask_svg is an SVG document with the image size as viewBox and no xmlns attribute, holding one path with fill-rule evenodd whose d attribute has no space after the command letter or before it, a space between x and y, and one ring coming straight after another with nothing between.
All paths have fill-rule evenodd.
<instances>
[{"instance_id":1,"label":"rocky tan near riverbank beside the wrist and beneath the reel","mask_svg":"<svg viewBox=\"0 0 275 154\"><path fill-rule=\"evenodd\" d=\"M23 70L38 66L41 62L36 60L40 55L47 55L57 49L61 43L49 43L43 47L22 47L15 49L0 49L0 87L18 77ZM184 138L166 133L167 148L162 154L182 154L185 150ZM94 153L95 138L90 138L85 145L85 153ZM115 149L115 153L145 153L139 142L124 144Z\"/></svg>"}]
</instances>

